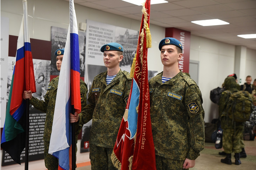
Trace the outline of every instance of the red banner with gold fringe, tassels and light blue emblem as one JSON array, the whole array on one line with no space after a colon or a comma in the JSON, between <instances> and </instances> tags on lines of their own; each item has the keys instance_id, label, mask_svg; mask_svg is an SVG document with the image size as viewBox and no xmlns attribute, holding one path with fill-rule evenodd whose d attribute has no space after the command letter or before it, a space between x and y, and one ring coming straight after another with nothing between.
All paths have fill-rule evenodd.
<instances>
[{"instance_id":1,"label":"red banner with gold fringe, tassels and light blue emblem","mask_svg":"<svg viewBox=\"0 0 256 170\"><path fill-rule=\"evenodd\" d=\"M142 20L136 60L131 69L132 87L119 128L112 162L121 170L156 169L155 147L151 131L147 52L151 46L149 32L150 0L142 8Z\"/></svg>"}]
</instances>

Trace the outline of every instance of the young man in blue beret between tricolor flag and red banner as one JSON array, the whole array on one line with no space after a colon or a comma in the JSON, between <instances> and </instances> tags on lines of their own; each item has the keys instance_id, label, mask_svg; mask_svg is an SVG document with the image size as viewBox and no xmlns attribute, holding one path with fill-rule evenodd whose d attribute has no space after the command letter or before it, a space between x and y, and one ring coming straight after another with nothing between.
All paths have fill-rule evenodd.
<instances>
[{"instance_id":1,"label":"young man in blue beret between tricolor flag and red banner","mask_svg":"<svg viewBox=\"0 0 256 170\"><path fill-rule=\"evenodd\" d=\"M116 170L111 154L126 109L132 79L121 71L123 47L118 43L105 44L100 49L107 71L94 77L85 107L85 123L92 119L90 130L90 162L92 170Z\"/></svg>"}]
</instances>

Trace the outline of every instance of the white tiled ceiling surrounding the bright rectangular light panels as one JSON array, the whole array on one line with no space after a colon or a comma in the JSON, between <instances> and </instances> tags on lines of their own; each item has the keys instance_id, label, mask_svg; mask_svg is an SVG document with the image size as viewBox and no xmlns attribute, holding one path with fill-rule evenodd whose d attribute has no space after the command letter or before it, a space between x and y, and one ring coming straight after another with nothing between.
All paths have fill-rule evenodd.
<instances>
[{"instance_id":1,"label":"white tiled ceiling surrounding the bright rectangular light panels","mask_svg":"<svg viewBox=\"0 0 256 170\"><path fill-rule=\"evenodd\" d=\"M256 0L167 1L150 6L150 24L175 27L190 31L192 35L256 50L256 38L237 37L256 34ZM121 0L74 0L74 3L141 21L142 7ZM209 19L220 19L230 24L203 27L191 23Z\"/></svg>"}]
</instances>

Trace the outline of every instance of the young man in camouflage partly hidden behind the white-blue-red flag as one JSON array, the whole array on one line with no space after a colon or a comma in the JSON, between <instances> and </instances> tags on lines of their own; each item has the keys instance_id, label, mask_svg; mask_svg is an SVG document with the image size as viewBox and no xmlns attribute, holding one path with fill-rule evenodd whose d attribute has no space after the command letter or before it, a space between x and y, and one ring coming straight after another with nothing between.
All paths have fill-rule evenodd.
<instances>
[{"instance_id":1,"label":"young man in camouflage partly hidden behind the white-blue-red flag","mask_svg":"<svg viewBox=\"0 0 256 170\"><path fill-rule=\"evenodd\" d=\"M56 66L58 71L60 71L62 58L64 54L64 49L58 49L55 52L56 56ZM57 88L58 88L59 76L52 79L49 83L47 93L45 95L45 99L39 100L32 96L31 91L24 91L23 92L23 99L29 98L30 103L38 110L42 112L46 112L45 118L45 130L43 133L43 140L44 140L44 155L45 155L45 167L49 170L58 170L59 161L58 158L54 157L51 154L48 154L49 144L50 144L50 135L52 133L52 125L53 125L53 116L54 116L54 108L56 102L56 95L57 95ZM86 106L86 94L87 94L87 85L84 81L80 79L80 96L81 96L81 108L82 110ZM72 114L72 113L70 113ZM79 114L80 121L75 123L75 136L76 136L76 143L78 141L78 134L80 133L83 123L83 113ZM71 120L70 120L70 123ZM76 147L77 151L77 147ZM75 152L76 153L76 152Z\"/></svg>"}]
</instances>

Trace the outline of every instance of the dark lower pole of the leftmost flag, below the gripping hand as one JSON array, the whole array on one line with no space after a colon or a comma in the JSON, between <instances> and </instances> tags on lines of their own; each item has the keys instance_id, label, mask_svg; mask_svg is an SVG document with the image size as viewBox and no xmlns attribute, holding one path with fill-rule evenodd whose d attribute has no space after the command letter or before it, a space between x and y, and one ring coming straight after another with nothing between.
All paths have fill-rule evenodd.
<instances>
[{"instance_id":1,"label":"dark lower pole of the leftmost flag, below the gripping hand","mask_svg":"<svg viewBox=\"0 0 256 170\"><path fill-rule=\"evenodd\" d=\"M29 99L26 99L26 145L25 145L25 170L28 170L28 143L29 143Z\"/></svg>"}]
</instances>

